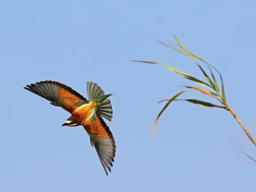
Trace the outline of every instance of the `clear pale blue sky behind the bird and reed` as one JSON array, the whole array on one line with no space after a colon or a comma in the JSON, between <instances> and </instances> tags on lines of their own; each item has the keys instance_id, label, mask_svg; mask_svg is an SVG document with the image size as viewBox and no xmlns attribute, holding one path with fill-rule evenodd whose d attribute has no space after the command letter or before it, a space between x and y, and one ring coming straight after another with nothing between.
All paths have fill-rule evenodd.
<instances>
[{"instance_id":1,"label":"clear pale blue sky behind the bird and reed","mask_svg":"<svg viewBox=\"0 0 256 192\"><path fill-rule=\"evenodd\" d=\"M152 128L161 99L191 84L159 61L199 75L193 62L150 40L174 42L223 74L227 100L256 136L255 1L1 1L0 191L252 191L256 148L227 111L176 102ZM200 77L200 76L199 76ZM54 80L87 97L112 93L116 140L104 173L83 127L23 89ZM183 98L205 98L189 93Z\"/></svg>"}]
</instances>

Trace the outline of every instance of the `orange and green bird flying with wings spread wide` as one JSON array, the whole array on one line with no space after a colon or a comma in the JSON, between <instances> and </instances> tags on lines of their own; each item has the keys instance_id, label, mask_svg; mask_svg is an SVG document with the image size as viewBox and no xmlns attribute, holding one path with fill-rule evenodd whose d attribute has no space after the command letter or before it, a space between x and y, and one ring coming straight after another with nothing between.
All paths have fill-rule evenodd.
<instances>
[{"instance_id":1,"label":"orange and green bird flying with wings spread wide","mask_svg":"<svg viewBox=\"0 0 256 192\"><path fill-rule=\"evenodd\" d=\"M108 175L108 171L111 172L110 166L113 166L116 145L113 134L102 117L109 121L113 117L111 101L108 99L112 94L105 95L97 83L87 82L86 87L88 100L69 86L57 81L40 81L24 88L51 101L53 106L60 106L70 112L71 116L62 126L83 125Z\"/></svg>"}]
</instances>

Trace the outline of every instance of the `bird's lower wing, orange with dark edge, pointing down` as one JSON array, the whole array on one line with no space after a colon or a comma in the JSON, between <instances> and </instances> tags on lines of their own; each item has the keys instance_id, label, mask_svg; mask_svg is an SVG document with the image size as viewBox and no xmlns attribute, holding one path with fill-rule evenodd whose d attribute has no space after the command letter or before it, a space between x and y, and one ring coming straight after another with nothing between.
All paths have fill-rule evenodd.
<instances>
[{"instance_id":1,"label":"bird's lower wing, orange with dark edge, pointing down","mask_svg":"<svg viewBox=\"0 0 256 192\"><path fill-rule=\"evenodd\" d=\"M97 118L90 125L84 126L84 129L88 132L92 147L95 147L100 162L108 175L108 170L111 172L110 166L113 166L112 162L114 162L116 152L115 139L109 127L97 113Z\"/></svg>"}]
</instances>

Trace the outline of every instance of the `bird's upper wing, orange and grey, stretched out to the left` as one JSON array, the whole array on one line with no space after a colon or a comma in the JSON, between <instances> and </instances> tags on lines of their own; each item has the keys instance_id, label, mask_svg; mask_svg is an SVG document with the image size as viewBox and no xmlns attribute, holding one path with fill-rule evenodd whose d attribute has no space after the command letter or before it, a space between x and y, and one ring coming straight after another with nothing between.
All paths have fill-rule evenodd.
<instances>
[{"instance_id":1,"label":"bird's upper wing, orange and grey, stretched out to the left","mask_svg":"<svg viewBox=\"0 0 256 192\"><path fill-rule=\"evenodd\" d=\"M77 103L86 101L82 95L72 90L72 88L56 81L40 81L24 88L50 100L52 105L60 106L70 113L78 108Z\"/></svg>"}]
</instances>

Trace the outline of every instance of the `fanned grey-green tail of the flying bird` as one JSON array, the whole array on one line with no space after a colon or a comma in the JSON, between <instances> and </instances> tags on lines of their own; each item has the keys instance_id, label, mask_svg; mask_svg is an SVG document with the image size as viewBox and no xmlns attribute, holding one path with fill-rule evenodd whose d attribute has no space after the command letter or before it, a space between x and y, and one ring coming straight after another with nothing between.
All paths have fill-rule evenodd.
<instances>
[{"instance_id":1,"label":"fanned grey-green tail of the flying bird","mask_svg":"<svg viewBox=\"0 0 256 192\"><path fill-rule=\"evenodd\" d=\"M96 101L99 104L99 106L97 107L97 113L111 121L113 111L111 102L108 99L111 94L104 95L104 91L96 83L87 82L86 85L88 100Z\"/></svg>"}]
</instances>

